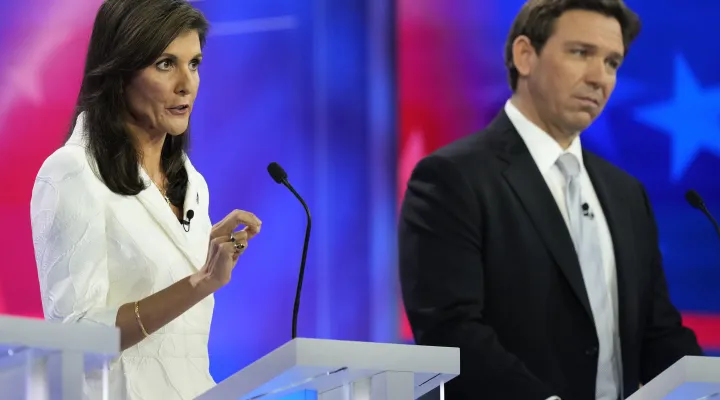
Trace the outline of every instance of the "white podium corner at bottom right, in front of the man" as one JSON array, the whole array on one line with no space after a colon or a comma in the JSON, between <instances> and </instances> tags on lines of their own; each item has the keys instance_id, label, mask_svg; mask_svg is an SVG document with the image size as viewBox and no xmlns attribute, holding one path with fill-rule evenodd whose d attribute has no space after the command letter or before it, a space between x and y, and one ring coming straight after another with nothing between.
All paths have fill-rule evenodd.
<instances>
[{"instance_id":1,"label":"white podium corner at bottom right, in front of the man","mask_svg":"<svg viewBox=\"0 0 720 400\"><path fill-rule=\"evenodd\" d=\"M685 399L720 399L720 358L683 357L628 397L628 400Z\"/></svg>"}]
</instances>

